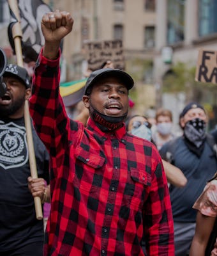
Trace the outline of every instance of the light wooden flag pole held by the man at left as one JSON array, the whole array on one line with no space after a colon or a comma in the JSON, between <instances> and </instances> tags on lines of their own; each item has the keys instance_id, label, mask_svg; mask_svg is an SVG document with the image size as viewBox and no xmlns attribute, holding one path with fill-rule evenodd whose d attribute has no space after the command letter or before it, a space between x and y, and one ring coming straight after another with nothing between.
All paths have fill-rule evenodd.
<instances>
[{"instance_id":1,"label":"light wooden flag pole held by the man at left","mask_svg":"<svg viewBox=\"0 0 217 256\"><path fill-rule=\"evenodd\" d=\"M13 41L15 44L15 52L17 56L17 65L19 65L20 67L24 67L24 63L22 60L22 47L21 47L22 30L20 27L20 15L19 15L17 0L8 0L8 4L11 10L13 11L13 13L15 14L17 20L19 21L13 25L12 34L13 34ZM29 166L31 171L31 177L33 177L33 179L37 179L38 173L37 173L36 159L34 154L33 132L31 129L31 118L29 115L28 100L25 101L24 120L25 120L25 126L26 126L27 145L29 150ZM43 213L42 213L42 207L41 207L41 199L39 196L34 196L34 207L36 211L36 218L38 220L42 220Z\"/></svg>"}]
</instances>

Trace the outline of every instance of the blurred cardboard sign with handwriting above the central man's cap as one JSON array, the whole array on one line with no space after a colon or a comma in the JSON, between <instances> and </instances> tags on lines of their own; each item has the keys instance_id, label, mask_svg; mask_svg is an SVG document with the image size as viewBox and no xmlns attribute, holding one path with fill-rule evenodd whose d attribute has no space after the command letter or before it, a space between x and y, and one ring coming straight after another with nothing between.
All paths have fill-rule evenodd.
<instances>
[{"instance_id":1,"label":"blurred cardboard sign with handwriting above the central man's cap","mask_svg":"<svg viewBox=\"0 0 217 256\"><path fill-rule=\"evenodd\" d=\"M83 49L91 70L100 68L107 60L111 60L115 68L124 69L122 40L85 41Z\"/></svg>"}]
</instances>

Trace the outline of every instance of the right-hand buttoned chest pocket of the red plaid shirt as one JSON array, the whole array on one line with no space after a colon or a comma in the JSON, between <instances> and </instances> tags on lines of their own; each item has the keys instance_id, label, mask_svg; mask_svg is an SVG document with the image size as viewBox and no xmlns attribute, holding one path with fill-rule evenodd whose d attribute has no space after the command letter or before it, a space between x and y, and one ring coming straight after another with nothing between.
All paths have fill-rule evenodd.
<instances>
[{"instance_id":1,"label":"right-hand buttoned chest pocket of the red plaid shirt","mask_svg":"<svg viewBox=\"0 0 217 256\"><path fill-rule=\"evenodd\" d=\"M127 192L131 195L129 203L131 208L138 211L141 205L146 202L147 196L149 195L151 174L138 168L130 168L130 178L131 182Z\"/></svg>"}]
</instances>

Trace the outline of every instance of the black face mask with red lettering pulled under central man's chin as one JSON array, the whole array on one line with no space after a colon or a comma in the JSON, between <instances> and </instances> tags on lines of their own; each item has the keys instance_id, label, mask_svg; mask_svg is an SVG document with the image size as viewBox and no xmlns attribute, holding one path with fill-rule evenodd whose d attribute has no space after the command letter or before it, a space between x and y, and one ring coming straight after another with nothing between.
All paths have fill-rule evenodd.
<instances>
[{"instance_id":1,"label":"black face mask with red lettering pulled under central man's chin","mask_svg":"<svg viewBox=\"0 0 217 256\"><path fill-rule=\"evenodd\" d=\"M123 116L107 116L101 114L92 106L89 110L94 122L96 122L96 125L103 132L112 132L121 128L123 126L124 120L126 119L126 116L128 115L128 112L126 112Z\"/></svg>"}]
</instances>

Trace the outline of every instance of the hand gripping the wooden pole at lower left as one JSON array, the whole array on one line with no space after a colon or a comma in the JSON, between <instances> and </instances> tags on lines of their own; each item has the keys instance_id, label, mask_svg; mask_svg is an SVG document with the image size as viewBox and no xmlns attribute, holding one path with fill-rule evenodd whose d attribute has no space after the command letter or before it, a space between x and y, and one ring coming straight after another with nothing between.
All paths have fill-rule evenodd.
<instances>
[{"instance_id":1,"label":"hand gripping the wooden pole at lower left","mask_svg":"<svg viewBox=\"0 0 217 256\"><path fill-rule=\"evenodd\" d=\"M46 182L42 178L33 179L32 177L28 177L28 188L31 194L34 196L39 196L41 201L45 200L46 193Z\"/></svg>"}]
</instances>

